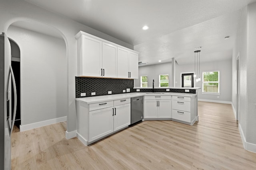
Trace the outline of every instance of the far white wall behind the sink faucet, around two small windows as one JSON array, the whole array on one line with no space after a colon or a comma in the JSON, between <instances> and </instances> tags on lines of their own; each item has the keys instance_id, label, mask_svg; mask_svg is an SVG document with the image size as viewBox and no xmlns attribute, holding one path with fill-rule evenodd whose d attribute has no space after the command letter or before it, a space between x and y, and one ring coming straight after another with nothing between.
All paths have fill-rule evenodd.
<instances>
[{"instance_id":1,"label":"far white wall behind the sink faucet, around two small windows","mask_svg":"<svg viewBox=\"0 0 256 170\"><path fill-rule=\"evenodd\" d=\"M169 86L171 84L171 76L172 76L172 63L162 63L162 64L154 64L148 66L140 66L139 67L139 78L134 80L134 86L140 87L140 76L148 76L148 87L159 86L159 75L160 74L169 74Z\"/></svg>"}]
</instances>

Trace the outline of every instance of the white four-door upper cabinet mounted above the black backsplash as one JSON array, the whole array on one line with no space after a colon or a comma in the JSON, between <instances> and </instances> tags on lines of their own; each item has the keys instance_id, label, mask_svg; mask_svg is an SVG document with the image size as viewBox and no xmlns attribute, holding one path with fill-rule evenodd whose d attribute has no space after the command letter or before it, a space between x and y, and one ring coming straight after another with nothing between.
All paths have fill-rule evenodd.
<instances>
[{"instance_id":1,"label":"white four-door upper cabinet mounted above the black backsplash","mask_svg":"<svg viewBox=\"0 0 256 170\"><path fill-rule=\"evenodd\" d=\"M138 53L80 31L77 39L77 76L138 78Z\"/></svg>"}]
</instances>

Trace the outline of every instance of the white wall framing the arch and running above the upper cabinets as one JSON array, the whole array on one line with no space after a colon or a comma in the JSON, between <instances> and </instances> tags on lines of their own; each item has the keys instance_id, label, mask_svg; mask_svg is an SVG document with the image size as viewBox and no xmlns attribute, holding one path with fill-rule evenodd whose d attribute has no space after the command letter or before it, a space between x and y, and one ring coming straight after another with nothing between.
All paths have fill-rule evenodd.
<instances>
[{"instance_id":1,"label":"white wall framing the arch and running above the upper cabinets","mask_svg":"<svg viewBox=\"0 0 256 170\"><path fill-rule=\"evenodd\" d=\"M0 32L7 32L9 25L15 21L36 21L58 31L66 43L66 55L68 58L68 115L66 137L76 135L76 107L75 107L75 81L76 76L76 39L78 31L84 31L112 41L116 44L133 49L132 45L106 35L100 31L82 25L76 21L60 16L24 0L1 0L0 5ZM68 134L71 134L68 136Z\"/></svg>"}]
</instances>

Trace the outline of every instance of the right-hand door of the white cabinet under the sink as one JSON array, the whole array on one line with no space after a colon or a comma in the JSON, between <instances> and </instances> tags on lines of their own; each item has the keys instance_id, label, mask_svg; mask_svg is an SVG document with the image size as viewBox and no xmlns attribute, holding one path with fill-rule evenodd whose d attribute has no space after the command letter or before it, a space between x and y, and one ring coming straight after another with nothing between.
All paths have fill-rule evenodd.
<instances>
[{"instance_id":1,"label":"right-hand door of the white cabinet under the sink","mask_svg":"<svg viewBox=\"0 0 256 170\"><path fill-rule=\"evenodd\" d=\"M159 100L158 118L172 117L172 100Z\"/></svg>"}]
</instances>

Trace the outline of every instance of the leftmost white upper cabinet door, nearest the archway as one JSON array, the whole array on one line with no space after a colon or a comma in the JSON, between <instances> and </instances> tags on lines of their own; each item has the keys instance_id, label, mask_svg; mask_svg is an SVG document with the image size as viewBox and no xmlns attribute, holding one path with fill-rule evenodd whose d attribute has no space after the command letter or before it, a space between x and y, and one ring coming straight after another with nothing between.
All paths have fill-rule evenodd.
<instances>
[{"instance_id":1,"label":"leftmost white upper cabinet door, nearest the archway","mask_svg":"<svg viewBox=\"0 0 256 170\"><path fill-rule=\"evenodd\" d=\"M82 76L101 76L102 41L82 35L81 50Z\"/></svg>"}]
</instances>

